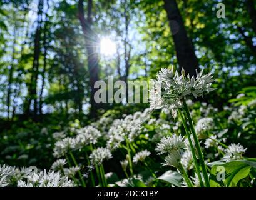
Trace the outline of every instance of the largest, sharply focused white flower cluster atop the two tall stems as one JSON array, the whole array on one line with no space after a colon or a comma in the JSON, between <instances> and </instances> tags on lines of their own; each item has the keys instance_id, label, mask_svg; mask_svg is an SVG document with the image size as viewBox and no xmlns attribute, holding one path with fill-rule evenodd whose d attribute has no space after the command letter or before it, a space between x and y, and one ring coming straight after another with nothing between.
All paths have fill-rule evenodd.
<instances>
[{"instance_id":1,"label":"largest, sharply focused white flower cluster atop the two tall stems","mask_svg":"<svg viewBox=\"0 0 256 200\"><path fill-rule=\"evenodd\" d=\"M202 75L203 71L190 79L172 69L162 68L157 74L156 80L152 81L153 88L150 90L150 109L168 108L169 106L181 106L180 100L192 94L195 98L202 96L204 92L210 92L213 82L212 74Z\"/></svg>"}]
</instances>

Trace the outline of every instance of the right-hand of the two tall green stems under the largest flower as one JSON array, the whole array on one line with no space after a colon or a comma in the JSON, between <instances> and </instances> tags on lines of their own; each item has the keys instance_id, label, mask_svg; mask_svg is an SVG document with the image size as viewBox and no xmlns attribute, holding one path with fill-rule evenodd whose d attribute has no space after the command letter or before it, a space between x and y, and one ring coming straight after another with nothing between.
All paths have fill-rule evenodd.
<instances>
[{"instance_id":1,"label":"right-hand of the two tall green stems under the largest flower","mask_svg":"<svg viewBox=\"0 0 256 200\"><path fill-rule=\"evenodd\" d=\"M209 181L209 178L208 178L207 169L205 167L205 161L203 159L203 154L202 154L202 151L201 151L201 148L200 148L200 144L198 142L197 133L195 133L195 128L193 126L193 121L192 121L192 118L190 116L188 106L187 106L187 103L186 103L185 99L182 99L182 103L183 103L185 112L187 114L188 123L190 124L190 129L191 129L192 134L193 134L193 138L194 138L194 141L195 141L195 147L197 148L199 161L200 161L200 164L201 164L201 167L202 167L203 178L205 179L206 186L210 187L210 181Z\"/></svg>"}]
</instances>

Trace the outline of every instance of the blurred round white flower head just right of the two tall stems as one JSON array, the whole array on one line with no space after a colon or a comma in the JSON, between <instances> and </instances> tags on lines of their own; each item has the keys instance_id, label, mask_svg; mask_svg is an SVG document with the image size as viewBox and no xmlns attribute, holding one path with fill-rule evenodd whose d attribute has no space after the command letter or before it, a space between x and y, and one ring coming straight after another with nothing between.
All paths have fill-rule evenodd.
<instances>
[{"instance_id":1,"label":"blurred round white flower head just right of the two tall stems","mask_svg":"<svg viewBox=\"0 0 256 200\"><path fill-rule=\"evenodd\" d=\"M212 118L201 118L198 120L195 131L199 139L205 138L205 132L211 131L214 128L214 121Z\"/></svg>"}]
</instances>

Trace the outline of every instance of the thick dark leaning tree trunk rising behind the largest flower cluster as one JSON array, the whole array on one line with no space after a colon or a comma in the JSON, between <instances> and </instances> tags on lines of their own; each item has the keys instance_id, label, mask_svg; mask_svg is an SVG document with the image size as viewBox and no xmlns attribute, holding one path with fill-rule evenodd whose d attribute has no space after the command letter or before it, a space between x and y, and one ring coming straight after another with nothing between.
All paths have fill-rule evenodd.
<instances>
[{"instance_id":1,"label":"thick dark leaning tree trunk rising behind the largest flower cluster","mask_svg":"<svg viewBox=\"0 0 256 200\"><path fill-rule=\"evenodd\" d=\"M198 70L198 60L195 56L192 41L187 35L177 2L175 0L163 1L165 2L165 11L172 31L180 69L184 68L190 76L195 76L196 69Z\"/></svg>"}]
</instances>

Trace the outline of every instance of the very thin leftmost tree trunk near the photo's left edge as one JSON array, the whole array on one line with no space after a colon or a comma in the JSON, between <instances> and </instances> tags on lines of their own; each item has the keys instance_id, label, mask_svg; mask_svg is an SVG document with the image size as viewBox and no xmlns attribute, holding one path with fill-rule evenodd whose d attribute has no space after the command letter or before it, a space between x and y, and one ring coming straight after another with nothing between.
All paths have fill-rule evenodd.
<instances>
[{"instance_id":1,"label":"very thin leftmost tree trunk near the photo's left edge","mask_svg":"<svg viewBox=\"0 0 256 200\"><path fill-rule=\"evenodd\" d=\"M9 81L8 81L8 89L7 89L7 119L9 121L9 112L10 112L10 107L11 107L11 86L13 84L13 68L14 68L14 56L15 56L15 45L16 45L16 24L14 25L14 30L13 30L13 50L12 50L12 56L11 56L11 68L9 70Z\"/></svg>"}]
</instances>

